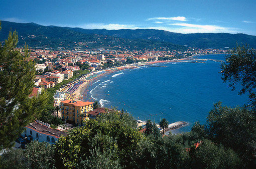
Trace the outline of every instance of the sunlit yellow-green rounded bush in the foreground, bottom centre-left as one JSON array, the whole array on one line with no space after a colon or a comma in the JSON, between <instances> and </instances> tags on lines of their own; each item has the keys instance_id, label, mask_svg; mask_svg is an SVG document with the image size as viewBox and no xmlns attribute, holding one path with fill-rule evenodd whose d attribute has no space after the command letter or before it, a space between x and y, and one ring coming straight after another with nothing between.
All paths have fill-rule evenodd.
<instances>
[{"instance_id":1,"label":"sunlit yellow-green rounded bush in the foreground, bottom centre-left","mask_svg":"<svg viewBox=\"0 0 256 169\"><path fill-rule=\"evenodd\" d=\"M121 121L89 120L84 127L71 130L68 136L62 136L56 143L57 166L74 168L80 163L80 159L85 160L89 157L90 149L95 146L100 148L102 152L105 152L106 148L117 149L117 154L114 156L120 158L121 165L129 165L131 159L129 154L136 150L141 136L141 133L136 129L123 124Z\"/></svg>"}]
</instances>

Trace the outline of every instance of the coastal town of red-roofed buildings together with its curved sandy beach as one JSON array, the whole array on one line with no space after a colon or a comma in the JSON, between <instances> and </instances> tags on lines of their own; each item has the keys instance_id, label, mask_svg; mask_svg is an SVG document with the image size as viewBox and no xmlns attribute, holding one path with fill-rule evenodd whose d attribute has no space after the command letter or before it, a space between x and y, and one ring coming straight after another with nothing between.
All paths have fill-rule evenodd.
<instances>
[{"instance_id":1,"label":"coastal town of red-roofed buildings together with its curved sandy beach","mask_svg":"<svg viewBox=\"0 0 256 169\"><path fill-rule=\"evenodd\" d=\"M22 48L17 48L17 50L24 51ZM107 113L107 108L94 107L96 100L86 95L85 92L90 84L100 76L161 62L188 62L187 59L194 55L224 54L226 52L227 50L223 49L199 48L188 48L184 52L169 51L168 49L145 51L105 49L81 51L79 48L68 50L62 47L57 50L32 49L30 59L36 62L37 75L30 97L37 97L42 90L53 88L64 80L72 79L76 71L88 70L88 73L62 85L53 96L53 106L59 107L59 110L53 112L53 115L65 121L64 124L53 129L50 124L37 120L26 126L26 130L17 142L20 141L20 147L25 147L25 144L32 140L47 141L54 144L61 134L67 135L67 130L81 126L86 120L94 119L100 114ZM193 59L191 60L193 62ZM146 122L139 119L137 122L141 132L145 132ZM187 124L187 122L178 121L169 124L167 130L177 129ZM162 130L158 124L157 126Z\"/></svg>"}]
</instances>

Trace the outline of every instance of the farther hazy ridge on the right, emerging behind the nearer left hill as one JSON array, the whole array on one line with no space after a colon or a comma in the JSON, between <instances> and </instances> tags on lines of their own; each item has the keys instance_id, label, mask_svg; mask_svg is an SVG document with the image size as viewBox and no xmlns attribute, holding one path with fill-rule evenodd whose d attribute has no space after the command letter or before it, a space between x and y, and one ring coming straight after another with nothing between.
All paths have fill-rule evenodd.
<instances>
[{"instance_id":1,"label":"farther hazy ridge on the right, emerging behind the nearer left hill","mask_svg":"<svg viewBox=\"0 0 256 169\"><path fill-rule=\"evenodd\" d=\"M163 30L154 29L137 29L137 30L106 30L94 29L87 30L81 28L69 28L76 32L86 34L101 34L126 39L147 39L162 42L171 42L178 45L188 45L189 47L198 48L224 48L236 47L238 44L249 44L250 47L256 48L256 36L246 34L227 34L227 33L196 33L196 34L179 34Z\"/></svg>"}]
</instances>

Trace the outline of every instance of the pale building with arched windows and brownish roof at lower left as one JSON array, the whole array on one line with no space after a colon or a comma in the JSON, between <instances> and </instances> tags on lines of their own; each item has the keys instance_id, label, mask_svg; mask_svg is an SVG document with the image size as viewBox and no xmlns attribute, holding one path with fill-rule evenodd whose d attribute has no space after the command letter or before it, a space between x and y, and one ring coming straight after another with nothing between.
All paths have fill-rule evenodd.
<instances>
[{"instance_id":1,"label":"pale building with arched windows and brownish roof at lower left","mask_svg":"<svg viewBox=\"0 0 256 169\"><path fill-rule=\"evenodd\" d=\"M38 140L39 142L45 141L54 144L61 135L66 136L67 133L53 129L49 124L37 120L26 126L25 131L21 135L24 138L27 137L28 141Z\"/></svg>"}]
</instances>

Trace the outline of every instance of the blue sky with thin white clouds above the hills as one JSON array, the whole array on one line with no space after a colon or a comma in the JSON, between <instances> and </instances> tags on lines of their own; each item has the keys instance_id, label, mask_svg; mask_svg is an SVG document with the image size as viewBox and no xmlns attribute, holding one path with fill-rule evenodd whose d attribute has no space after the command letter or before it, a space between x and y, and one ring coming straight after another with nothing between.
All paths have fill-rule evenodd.
<instances>
[{"instance_id":1,"label":"blue sky with thin white clouds above the hills","mask_svg":"<svg viewBox=\"0 0 256 169\"><path fill-rule=\"evenodd\" d=\"M0 20L84 29L256 36L256 0L0 0Z\"/></svg>"}]
</instances>

